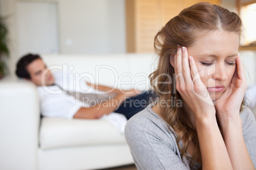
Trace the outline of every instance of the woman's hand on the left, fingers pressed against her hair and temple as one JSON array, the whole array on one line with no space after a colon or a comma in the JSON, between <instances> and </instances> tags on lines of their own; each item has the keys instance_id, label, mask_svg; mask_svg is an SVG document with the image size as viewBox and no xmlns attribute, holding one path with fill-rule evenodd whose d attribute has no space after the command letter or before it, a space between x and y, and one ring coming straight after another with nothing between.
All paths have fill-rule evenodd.
<instances>
[{"instance_id":1,"label":"woman's hand on the left, fingers pressed against her hair and temple","mask_svg":"<svg viewBox=\"0 0 256 170\"><path fill-rule=\"evenodd\" d=\"M213 101L206 86L201 81L194 58L188 57L188 51L185 47L177 49L174 72L176 89L194 114L195 119L203 119L208 116L215 117L216 111Z\"/></svg>"}]
</instances>

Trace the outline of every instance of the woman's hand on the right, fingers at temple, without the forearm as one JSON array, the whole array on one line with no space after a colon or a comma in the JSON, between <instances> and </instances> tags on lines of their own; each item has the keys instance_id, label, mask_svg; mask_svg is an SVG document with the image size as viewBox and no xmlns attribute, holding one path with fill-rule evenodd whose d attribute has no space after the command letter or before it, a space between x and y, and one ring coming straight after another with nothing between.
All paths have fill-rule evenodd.
<instances>
[{"instance_id":1,"label":"woman's hand on the right, fingers at temple, without the forearm","mask_svg":"<svg viewBox=\"0 0 256 170\"><path fill-rule=\"evenodd\" d=\"M239 109L247 89L245 71L240 56L236 58L236 71L226 91L215 101L220 122L239 116Z\"/></svg>"}]
</instances>

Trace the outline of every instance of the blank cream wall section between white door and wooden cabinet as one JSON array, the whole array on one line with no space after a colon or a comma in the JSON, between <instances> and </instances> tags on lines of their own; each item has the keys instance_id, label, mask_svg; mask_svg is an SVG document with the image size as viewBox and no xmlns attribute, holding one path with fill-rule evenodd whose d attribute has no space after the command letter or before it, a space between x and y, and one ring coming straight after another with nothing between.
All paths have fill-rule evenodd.
<instances>
[{"instance_id":1,"label":"blank cream wall section between white door and wooden cabinet","mask_svg":"<svg viewBox=\"0 0 256 170\"><path fill-rule=\"evenodd\" d=\"M125 53L124 0L60 0L60 53Z\"/></svg>"}]
</instances>

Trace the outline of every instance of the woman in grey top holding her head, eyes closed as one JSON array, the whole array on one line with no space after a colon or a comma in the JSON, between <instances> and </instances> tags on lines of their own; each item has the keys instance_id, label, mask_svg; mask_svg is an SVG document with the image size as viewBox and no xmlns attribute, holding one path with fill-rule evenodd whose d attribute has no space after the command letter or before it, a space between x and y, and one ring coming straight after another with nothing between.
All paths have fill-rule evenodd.
<instances>
[{"instance_id":1,"label":"woman in grey top holding her head, eyes closed","mask_svg":"<svg viewBox=\"0 0 256 170\"><path fill-rule=\"evenodd\" d=\"M157 33L159 65L150 79L159 99L125 127L138 169L254 169L241 26L235 13L199 3Z\"/></svg>"}]
</instances>

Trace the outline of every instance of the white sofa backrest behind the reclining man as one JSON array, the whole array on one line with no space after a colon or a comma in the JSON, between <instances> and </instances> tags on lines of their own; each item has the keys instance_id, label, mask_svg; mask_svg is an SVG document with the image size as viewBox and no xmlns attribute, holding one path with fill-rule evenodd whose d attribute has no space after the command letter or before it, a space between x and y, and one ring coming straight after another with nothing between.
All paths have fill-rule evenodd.
<instances>
[{"instance_id":1,"label":"white sofa backrest behind the reclining man","mask_svg":"<svg viewBox=\"0 0 256 170\"><path fill-rule=\"evenodd\" d=\"M46 65L54 70L73 72L91 83L113 88L149 88L148 75L157 67L153 54L121 55L42 55Z\"/></svg>"}]
</instances>

